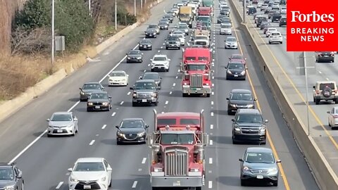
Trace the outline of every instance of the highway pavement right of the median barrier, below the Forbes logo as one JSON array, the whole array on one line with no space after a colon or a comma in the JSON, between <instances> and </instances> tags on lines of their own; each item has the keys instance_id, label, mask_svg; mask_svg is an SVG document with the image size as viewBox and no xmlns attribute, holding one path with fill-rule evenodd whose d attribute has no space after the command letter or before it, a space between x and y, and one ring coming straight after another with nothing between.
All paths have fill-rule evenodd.
<instances>
[{"instance_id":1,"label":"highway pavement right of the median barrier, below the Forbes logo","mask_svg":"<svg viewBox=\"0 0 338 190\"><path fill-rule=\"evenodd\" d=\"M235 1L238 3L238 1ZM239 4L237 4L239 5ZM241 6L242 7L242 6ZM258 15L263 14L258 8ZM247 16L248 24L254 25L253 16ZM287 42L287 28L279 27L278 23L272 23L278 31L282 33L284 42ZM296 71L296 63L294 59L294 52L288 52L287 43L283 44L268 44L268 38L263 34L263 30L259 30L256 27L256 34L261 36L261 40L258 44L266 44L270 51L264 52L264 56L270 56L273 58L272 65L278 65L278 67L284 70L283 75L276 76L280 81L288 81L288 85L283 89L287 91L289 100L294 104L297 113L301 116L301 120L307 126L307 114L306 114L306 81L305 77L299 75ZM320 150L324 154L327 161L330 163L333 171L338 171L338 131L332 130L328 126L327 122L327 110L330 110L335 105L332 101L321 101L320 105L315 105L313 102L313 85L317 81L329 81L333 80L337 82L337 53L335 54L334 63L315 63L315 53L307 52L306 61L308 65L315 65L315 74L308 75L308 101L309 101L309 125L310 134L315 139L316 144L320 147Z\"/></svg>"}]
</instances>

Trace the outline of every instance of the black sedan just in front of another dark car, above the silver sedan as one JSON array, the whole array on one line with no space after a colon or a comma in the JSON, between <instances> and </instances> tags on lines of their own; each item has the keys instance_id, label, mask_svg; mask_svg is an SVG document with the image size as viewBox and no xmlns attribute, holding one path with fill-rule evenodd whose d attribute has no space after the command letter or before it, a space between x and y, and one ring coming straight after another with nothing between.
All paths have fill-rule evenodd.
<instances>
[{"instance_id":1,"label":"black sedan just in front of another dark car, above the silver sedan","mask_svg":"<svg viewBox=\"0 0 338 190\"><path fill-rule=\"evenodd\" d=\"M87 101L87 111L111 110L111 96L106 91L92 93Z\"/></svg>"}]
</instances>

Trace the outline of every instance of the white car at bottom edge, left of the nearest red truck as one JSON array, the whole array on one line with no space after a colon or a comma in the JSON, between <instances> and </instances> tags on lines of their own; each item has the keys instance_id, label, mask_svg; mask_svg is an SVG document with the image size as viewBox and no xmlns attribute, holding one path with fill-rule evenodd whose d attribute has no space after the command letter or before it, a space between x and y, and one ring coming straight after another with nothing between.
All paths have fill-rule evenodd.
<instances>
[{"instance_id":1,"label":"white car at bottom edge, left of the nearest red truck","mask_svg":"<svg viewBox=\"0 0 338 190\"><path fill-rule=\"evenodd\" d=\"M111 165L104 158L78 158L73 168L69 168L69 190L108 190L111 186Z\"/></svg>"}]
</instances>

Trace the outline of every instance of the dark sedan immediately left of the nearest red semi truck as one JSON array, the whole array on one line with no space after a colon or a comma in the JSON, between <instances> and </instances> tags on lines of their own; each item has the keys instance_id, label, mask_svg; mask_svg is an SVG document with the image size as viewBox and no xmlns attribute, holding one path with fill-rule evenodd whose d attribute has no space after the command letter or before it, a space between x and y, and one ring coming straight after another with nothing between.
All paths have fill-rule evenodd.
<instances>
[{"instance_id":1,"label":"dark sedan immediately left of the nearest red semi truck","mask_svg":"<svg viewBox=\"0 0 338 190\"><path fill-rule=\"evenodd\" d=\"M142 118L126 118L116 126L116 144L146 143L146 125Z\"/></svg>"}]
</instances>

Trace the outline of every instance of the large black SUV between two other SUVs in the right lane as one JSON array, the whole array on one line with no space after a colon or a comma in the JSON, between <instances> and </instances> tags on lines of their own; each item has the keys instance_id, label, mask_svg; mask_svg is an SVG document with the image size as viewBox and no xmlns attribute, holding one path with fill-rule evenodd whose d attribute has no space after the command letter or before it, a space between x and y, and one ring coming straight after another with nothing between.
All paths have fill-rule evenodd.
<instances>
[{"instance_id":1,"label":"large black SUV between two other SUVs in the right lane","mask_svg":"<svg viewBox=\"0 0 338 190\"><path fill-rule=\"evenodd\" d=\"M266 143L266 127L262 114L257 109L239 108L232 119L232 144L240 141Z\"/></svg>"}]
</instances>

